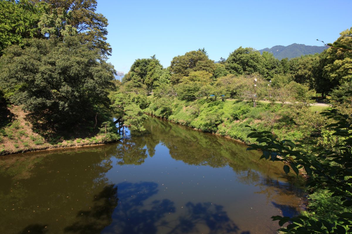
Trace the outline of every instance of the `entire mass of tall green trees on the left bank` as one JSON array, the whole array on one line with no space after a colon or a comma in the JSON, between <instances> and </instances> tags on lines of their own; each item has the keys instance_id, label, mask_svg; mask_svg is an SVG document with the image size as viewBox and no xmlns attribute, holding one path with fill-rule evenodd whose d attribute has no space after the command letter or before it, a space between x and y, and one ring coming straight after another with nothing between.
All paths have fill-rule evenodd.
<instances>
[{"instance_id":1,"label":"entire mass of tall green trees on the left bank","mask_svg":"<svg viewBox=\"0 0 352 234\"><path fill-rule=\"evenodd\" d=\"M115 70L106 62L107 19L95 10L95 0L0 2L1 127L13 121L7 105L14 104L50 142L67 127L112 130Z\"/></svg>"}]
</instances>

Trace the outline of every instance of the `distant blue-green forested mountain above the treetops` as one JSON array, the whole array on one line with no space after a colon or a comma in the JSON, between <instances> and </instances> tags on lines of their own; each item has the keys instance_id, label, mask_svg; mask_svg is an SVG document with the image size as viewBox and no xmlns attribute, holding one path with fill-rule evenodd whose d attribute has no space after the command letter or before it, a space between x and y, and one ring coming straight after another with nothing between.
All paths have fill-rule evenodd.
<instances>
[{"instance_id":1,"label":"distant blue-green forested mountain above the treetops","mask_svg":"<svg viewBox=\"0 0 352 234\"><path fill-rule=\"evenodd\" d=\"M326 46L306 46L304 44L292 44L289 46L274 46L265 49L260 49L259 52L260 54L263 53L263 51L268 51L272 54L274 54L274 57L281 60L283 58L295 58L301 55L306 55L306 54L315 54L315 53L321 53L323 52L327 47Z\"/></svg>"}]
</instances>

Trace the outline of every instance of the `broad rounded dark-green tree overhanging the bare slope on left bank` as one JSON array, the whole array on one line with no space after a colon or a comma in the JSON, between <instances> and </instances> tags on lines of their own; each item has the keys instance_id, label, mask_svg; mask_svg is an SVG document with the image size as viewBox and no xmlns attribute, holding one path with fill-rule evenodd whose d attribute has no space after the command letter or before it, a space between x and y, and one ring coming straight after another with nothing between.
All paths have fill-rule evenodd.
<instances>
[{"instance_id":1,"label":"broad rounded dark-green tree overhanging the bare slope on left bank","mask_svg":"<svg viewBox=\"0 0 352 234\"><path fill-rule=\"evenodd\" d=\"M99 48L82 44L77 36L10 46L0 63L5 96L50 126L94 121L99 109L109 105L114 68Z\"/></svg>"}]
</instances>

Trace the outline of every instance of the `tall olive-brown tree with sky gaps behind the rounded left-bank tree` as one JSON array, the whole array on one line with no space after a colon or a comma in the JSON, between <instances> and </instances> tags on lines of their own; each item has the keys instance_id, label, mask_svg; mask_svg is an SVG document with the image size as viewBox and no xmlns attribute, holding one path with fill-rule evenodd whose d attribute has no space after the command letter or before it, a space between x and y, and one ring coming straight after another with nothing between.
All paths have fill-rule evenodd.
<instances>
[{"instance_id":1,"label":"tall olive-brown tree with sky gaps behind the rounded left-bank tree","mask_svg":"<svg viewBox=\"0 0 352 234\"><path fill-rule=\"evenodd\" d=\"M33 0L46 2L38 27L48 38L63 38L79 34L83 41L92 42L104 55L111 55L106 42L107 19L96 13L96 0Z\"/></svg>"}]
</instances>

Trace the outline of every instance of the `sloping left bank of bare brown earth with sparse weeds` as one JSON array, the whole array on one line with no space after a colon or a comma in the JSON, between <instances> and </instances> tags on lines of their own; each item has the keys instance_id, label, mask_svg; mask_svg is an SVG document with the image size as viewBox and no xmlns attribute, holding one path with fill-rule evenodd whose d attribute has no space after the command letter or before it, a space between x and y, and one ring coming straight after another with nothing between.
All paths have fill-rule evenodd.
<instances>
[{"instance_id":1,"label":"sloping left bank of bare brown earth with sparse weeds","mask_svg":"<svg viewBox=\"0 0 352 234\"><path fill-rule=\"evenodd\" d=\"M120 136L99 129L68 129L66 132L42 131L33 127L27 114L18 106L6 109L8 122L0 127L0 155L39 151L44 149L82 147L114 142ZM76 131L75 131L76 130Z\"/></svg>"}]
</instances>

